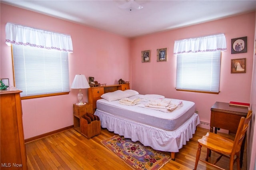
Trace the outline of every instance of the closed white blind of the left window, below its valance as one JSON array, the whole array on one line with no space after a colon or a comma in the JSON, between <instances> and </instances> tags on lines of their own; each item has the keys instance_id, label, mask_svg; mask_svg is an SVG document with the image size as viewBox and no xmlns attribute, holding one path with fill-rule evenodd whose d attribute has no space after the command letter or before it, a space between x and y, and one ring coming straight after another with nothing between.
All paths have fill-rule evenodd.
<instances>
[{"instance_id":1,"label":"closed white blind of the left window, below its valance","mask_svg":"<svg viewBox=\"0 0 256 170\"><path fill-rule=\"evenodd\" d=\"M68 52L12 45L15 86L21 97L69 92Z\"/></svg>"}]
</instances>

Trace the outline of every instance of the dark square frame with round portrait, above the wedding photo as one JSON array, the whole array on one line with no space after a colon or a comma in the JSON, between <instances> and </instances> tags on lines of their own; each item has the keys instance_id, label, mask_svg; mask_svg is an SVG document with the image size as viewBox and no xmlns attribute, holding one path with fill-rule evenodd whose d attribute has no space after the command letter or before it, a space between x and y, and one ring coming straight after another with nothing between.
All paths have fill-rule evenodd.
<instances>
[{"instance_id":1,"label":"dark square frame with round portrait, above the wedding photo","mask_svg":"<svg viewBox=\"0 0 256 170\"><path fill-rule=\"evenodd\" d=\"M247 37L231 39L231 53L247 53Z\"/></svg>"}]
</instances>

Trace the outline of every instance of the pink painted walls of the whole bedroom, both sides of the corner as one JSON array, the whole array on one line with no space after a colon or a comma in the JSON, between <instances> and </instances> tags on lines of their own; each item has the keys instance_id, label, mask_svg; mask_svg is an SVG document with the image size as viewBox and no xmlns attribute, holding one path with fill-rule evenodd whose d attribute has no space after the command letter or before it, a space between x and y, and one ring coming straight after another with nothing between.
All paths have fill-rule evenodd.
<instances>
[{"instance_id":1,"label":"pink painted walls of the whole bedroom, both sides of the corner","mask_svg":"<svg viewBox=\"0 0 256 170\"><path fill-rule=\"evenodd\" d=\"M10 47L5 44L5 24L14 22L71 35L74 53L69 55L70 85L75 74L94 76L95 80L109 85L118 83L118 79L122 78L131 81L132 89L141 94L155 93L169 98L194 101L200 119L208 122L210 107L215 101L250 102L251 83L255 83L252 82L254 12L133 40L2 3L0 12L0 77L9 78L10 85L13 85L12 56ZM228 50L222 53L220 93L214 95L176 91L174 40L216 33L226 35L228 47ZM244 36L248 37L248 52L231 54L231 39ZM164 47L168 48L168 61L156 62L156 49ZM148 49L151 50L151 62L142 63L141 51ZM246 73L230 73L230 59L236 58L246 58ZM78 91L70 90L69 95L22 100L25 138L73 125L72 104L77 101ZM83 90L83 93L84 101L88 101L87 90ZM254 159L255 152L251 155L251 160ZM255 160L251 161L250 167L254 162Z\"/></svg>"}]
</instances>

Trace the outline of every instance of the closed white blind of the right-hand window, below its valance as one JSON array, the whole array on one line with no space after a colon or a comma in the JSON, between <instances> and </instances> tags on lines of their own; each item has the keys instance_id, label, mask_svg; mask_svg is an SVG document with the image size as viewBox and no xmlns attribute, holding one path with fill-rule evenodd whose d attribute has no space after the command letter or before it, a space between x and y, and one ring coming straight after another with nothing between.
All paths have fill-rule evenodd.
<instances>
[{"instance_id":1,"label":"closed white blind of the right-hand window, below its valance","mask_svg":"<svg viewBox=\"0 0 256 170\"><path fill-rule=\"evenodd\" d=\"M177 55L176 90L218 93L221 51Z\"/></svg>"}]
</instances>

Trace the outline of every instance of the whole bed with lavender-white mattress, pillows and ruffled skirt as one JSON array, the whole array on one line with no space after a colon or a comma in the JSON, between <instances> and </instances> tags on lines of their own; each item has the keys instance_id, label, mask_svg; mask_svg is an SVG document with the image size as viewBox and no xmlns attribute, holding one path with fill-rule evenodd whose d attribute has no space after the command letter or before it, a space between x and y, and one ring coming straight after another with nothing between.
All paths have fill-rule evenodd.
<instances>
[{"instance_id":1,"label":"whole bed with lavender-white mattress, pillows and ruffled skirt","mask_svg":"<svg viewBox=\"0 0 256 170\"><path fill-rule=\"evenodd\" d=\"M191 101L141 95L130 89L107 92L101 98L93 102L96 103L94 114L100 117L102 128L155 150L171 152L172 160L175 160L175 152L192 138L200 123ZM160 108L148 107L148 103L159 101L164 101L164 106L171 101L172 105L168 109L163 109L162 103Z\"/></svg>"}]
</instances>

